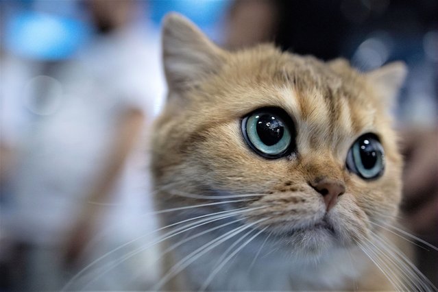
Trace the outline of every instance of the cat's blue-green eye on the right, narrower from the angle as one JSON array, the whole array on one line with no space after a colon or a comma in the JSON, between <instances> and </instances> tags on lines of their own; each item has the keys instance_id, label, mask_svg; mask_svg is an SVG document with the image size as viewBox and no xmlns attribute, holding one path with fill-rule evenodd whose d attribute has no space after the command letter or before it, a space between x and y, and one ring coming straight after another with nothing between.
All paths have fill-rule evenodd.
<instances>
[{"instance_id":1,"label":"cat's blue-green eye on the right, narrower from the angle","mask_svg":"<svg viewBox=\"0 0 438 292\"><path fill-rule=\"evenodd\" d=\"M361 178L378 178L385 169L383 147L374 134L360 136L347 155L347 167Z\"/></svg>"}]
</instances>

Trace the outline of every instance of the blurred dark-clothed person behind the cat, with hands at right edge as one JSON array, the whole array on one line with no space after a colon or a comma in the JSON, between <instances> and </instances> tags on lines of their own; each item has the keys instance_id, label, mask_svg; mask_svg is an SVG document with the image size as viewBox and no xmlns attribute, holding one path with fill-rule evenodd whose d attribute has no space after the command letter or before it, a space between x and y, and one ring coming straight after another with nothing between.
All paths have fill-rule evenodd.
<instances>
[{"instance_id":1,"label":"blurred dark-clothed person behind the cat, with hands at right edge","mask_svg":"<svg viewBox=\"0 0 438 292\"><path fill-rule=\"evenodd\" d=\"M438 246L438 1L234 1L230 49L275 42L323 60L343 57L363 71L404 60L411 71L398 104L405 154L403 219ZM403 235L403 234L402 234ZM404 236L404 235L403 235ZM407 237L409 239L409 237ZM411 240L411 239L409 239ZM420 245L422 243L419 243ZM438 253L415 247L419 268L438 286Z\"/></svg>"}]
</instances>

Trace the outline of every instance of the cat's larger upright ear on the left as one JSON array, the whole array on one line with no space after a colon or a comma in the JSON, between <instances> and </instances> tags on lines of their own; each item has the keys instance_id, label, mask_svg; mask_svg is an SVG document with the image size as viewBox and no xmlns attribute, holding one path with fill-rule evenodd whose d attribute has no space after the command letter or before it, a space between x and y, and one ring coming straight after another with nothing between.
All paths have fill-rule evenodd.
<instances>
[{"instance_id":1,"label":"cat's larger upright ear on the left","mask_svg":"<svg viewBox=\"0 0 438 292\"><path fill-rule=\"evenodd\" d=\"M162 50L169 88L184 90L223 64L223 51L184 16L167 14L162 29Z\"/></svg>"}]
</instances>

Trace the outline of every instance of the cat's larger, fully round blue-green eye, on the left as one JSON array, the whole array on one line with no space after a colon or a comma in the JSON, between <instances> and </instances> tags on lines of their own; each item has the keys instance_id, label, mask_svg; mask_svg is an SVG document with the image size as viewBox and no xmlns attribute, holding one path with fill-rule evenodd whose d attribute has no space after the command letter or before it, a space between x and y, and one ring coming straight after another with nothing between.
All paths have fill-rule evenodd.
<instances>
[{"instance_id":1,"label":"cat's larger, fully round blue-green eye, on the left","mask_svg":"<svg viewBox=\"0 0 438 292\"><path fill-rule=\"evenodd\" d=\"M291 119L278 108L262 108L242 119L246 143L259 155L280 158L291 152L293 132Z\"/></svg>"}]
</instances>

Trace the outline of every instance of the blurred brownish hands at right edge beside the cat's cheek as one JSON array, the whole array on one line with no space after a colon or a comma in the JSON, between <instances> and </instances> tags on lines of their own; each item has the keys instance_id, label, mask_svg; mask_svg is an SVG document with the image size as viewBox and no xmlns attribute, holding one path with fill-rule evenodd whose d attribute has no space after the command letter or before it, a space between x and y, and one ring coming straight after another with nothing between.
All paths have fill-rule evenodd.
<instances>
[{"instance_id":1,"label":"blurred brownish hands at right edge beside the cat's cheek","mask_svg":"<svg viewBox=\"0 0 438 292\"><path fill-rule=\"evenodd\" d=\"M438 129L408 127L402 131L404 165L404 202L402 225L438 247ZM417 265L434 284L438 284L437 252L415 246Z\"/></svg>"}]
</instances>

